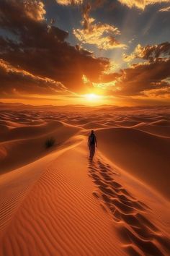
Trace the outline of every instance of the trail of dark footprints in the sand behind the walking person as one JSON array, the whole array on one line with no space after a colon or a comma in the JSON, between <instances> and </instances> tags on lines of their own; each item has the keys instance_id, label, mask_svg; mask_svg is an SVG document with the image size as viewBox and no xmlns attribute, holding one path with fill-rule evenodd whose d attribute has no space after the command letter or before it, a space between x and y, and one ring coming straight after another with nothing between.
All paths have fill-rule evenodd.
<instances>
[{"instance_id":1,"label":"trail of dark footprints in the sand behind the walking person","mask_svg":"<svg viewBox=\"0 0 170 256\"><path fill-rule=\"evenodd\" d=\"M170 255L170 239L145 216L151 209L122 187L113 174L117 173L102 158L95 162L89 161L89 176L98 187L93 195L117 223L122 247L130 256Z\"/></svg>"}]
</instances>

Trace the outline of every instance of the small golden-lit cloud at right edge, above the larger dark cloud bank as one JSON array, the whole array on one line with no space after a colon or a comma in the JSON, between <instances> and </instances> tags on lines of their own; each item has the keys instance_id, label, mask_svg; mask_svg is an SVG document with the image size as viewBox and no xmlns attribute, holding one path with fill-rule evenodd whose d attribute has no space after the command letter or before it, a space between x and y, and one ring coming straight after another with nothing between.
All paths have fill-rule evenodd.
<instances>
[{"instance_id":1,"label":"small golden-lit cloud at right edge, above the larger dark cloud bank","mask_svg":"<svg viewBox=\"0 0 170 256\"><path fill-rule=\"evenodd\" d=\"M141 46L138 44L135 50L130 55L123 55L124 61L130 62L134 59L146 59L148 61L155 61L160 57L169 57L170 56L170 43L160 43L153 46Z\"/></svg>"}]
</instances>

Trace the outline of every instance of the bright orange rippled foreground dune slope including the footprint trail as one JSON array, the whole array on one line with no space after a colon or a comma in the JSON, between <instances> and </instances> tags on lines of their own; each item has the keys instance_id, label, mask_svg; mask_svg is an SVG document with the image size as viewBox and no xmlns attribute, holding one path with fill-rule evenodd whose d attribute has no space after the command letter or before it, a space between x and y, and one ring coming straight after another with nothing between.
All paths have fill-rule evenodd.
<instances>
[{"instance_id":1,"label":"bright orange rippled foreground dune slope including the footprint trail","mask_svg":"<svg viewBox=\"0 0 170 256\"><path fill-rule=\"evenodd\" d=\"M35 171L36 163L42 171L32 176L28 173ZM139 189L133 195L102 155L89 162L86 142L72 145L61 155L47 155L35 166L27 166L27 182L23 169L13 172L11 185L16 178L19 184L24 179L24 184L21 194L19 185L11 188L10 200L4 198L3 212L15 210L5 220L1 255L169 253L167 216L165 223L155 216L151 203L148 207L141 201ZM166 202L161 207L166 209Z\"/></svg>"}]
</instances>

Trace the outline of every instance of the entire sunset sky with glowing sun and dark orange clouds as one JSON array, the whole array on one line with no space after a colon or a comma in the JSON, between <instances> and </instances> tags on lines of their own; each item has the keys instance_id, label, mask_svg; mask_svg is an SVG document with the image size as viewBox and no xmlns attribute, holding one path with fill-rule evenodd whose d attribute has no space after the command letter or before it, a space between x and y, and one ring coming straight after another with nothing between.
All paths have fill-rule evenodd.
<instances>
[{"instance_id":1,"label":"entire sunset sky with glowing sun and dark orange clouds","mask_svg":"<svg viewBox=\"0 0 170 256\"><path fill-rule=\"evenodd\" d=\"M170 0L0 0L0 101L170 103Z\"/></svg>"}]
</instances>

